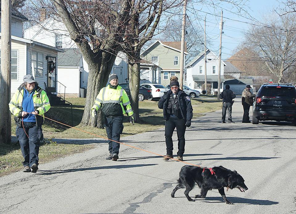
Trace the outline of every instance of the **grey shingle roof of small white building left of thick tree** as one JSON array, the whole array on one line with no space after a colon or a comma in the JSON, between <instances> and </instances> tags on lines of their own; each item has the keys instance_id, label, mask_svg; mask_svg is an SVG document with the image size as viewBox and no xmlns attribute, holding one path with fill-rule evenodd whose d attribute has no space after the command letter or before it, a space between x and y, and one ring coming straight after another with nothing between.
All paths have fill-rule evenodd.
<instances>
[{"instance_id":1,"label":"grey shingle roof of small white building left of thick tree","mask_svg":"<svg viewBox=\"0 0 296 214\"><path fill-rule=\"evenodd\" d=\"M78 48L64 49L64 53L58 53L58 66L79 67L81 58Z\"/></svg>"}]
</instances>

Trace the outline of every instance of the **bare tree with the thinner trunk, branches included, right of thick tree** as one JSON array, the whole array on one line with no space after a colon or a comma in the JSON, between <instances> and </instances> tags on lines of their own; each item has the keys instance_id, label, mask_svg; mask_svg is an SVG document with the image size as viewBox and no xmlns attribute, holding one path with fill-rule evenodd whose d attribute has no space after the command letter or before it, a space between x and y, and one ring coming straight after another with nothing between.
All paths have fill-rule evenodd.
<instances>
[{"instance_id":1,"label":"bare tree with the thinner trunk, branches included, right of thick tree","mask_svg":"<svg viewBox=\"0 0 296 214\"><path fill-rule=\"evenodd\" d=\"M164 11L178 7L183 0L139 0L133 1L129 29L125 36L123 51L129 63L129 87L131 105L136 122L139 117L140 51L154 35ZM162 32L162 30L160 30Z\"/></svg>"}]
</instances>

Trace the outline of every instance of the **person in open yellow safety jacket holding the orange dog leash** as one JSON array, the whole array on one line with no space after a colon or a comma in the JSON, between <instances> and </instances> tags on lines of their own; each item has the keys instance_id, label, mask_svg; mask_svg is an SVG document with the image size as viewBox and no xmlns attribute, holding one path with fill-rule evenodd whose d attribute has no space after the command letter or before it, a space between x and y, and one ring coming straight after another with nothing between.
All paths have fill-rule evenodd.
<instances>
[{"instance_id":1,"label":"person in open yellow safety jacket holding the orange dog leash","mask_svg":"<svg viewBox=\"0 0 296 214\"><path fill-rule=\"evenodd\" d=\"M23 80L24 83L10 100L9 109L14 115L15 134L24 157L23 172L35 173L38 170L40 140L43 139L44 116L40 115L50 109L50 103L46 92L38 86L32 75L25 75Z\"/></svg>"}]
</instances>

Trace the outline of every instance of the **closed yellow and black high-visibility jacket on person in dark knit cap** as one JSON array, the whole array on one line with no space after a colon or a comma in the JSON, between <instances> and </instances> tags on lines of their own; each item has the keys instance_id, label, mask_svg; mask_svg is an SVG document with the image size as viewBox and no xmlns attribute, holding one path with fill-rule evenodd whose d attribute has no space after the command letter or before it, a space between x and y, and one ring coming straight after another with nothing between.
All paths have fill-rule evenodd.
<instances>
[{"instance_id":1,"label":"closed yellow and black high-visibility jacket on person in dark knit cap","mask_svg":"<svg viewBox=\"0 0 296 214\"><path fill-rule=\"evenodd\" d=\"M92 115L100 108L107 117L121 116L125 113L129 116L134 114L130 106L130 99L120 85L117 85L116 89L110 88L108 85L100 90L95 104L92 106Z\"/></svg>"}]
</instances>

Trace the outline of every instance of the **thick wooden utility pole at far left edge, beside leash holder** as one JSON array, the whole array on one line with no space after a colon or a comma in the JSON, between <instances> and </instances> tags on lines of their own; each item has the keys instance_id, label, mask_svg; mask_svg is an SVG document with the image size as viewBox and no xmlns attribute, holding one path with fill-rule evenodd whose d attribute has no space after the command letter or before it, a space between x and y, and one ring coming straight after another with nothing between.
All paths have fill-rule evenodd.
<instances>
[{"instance_id":1,"label":"thick wooden utility pole at far left edge, beside leash holder","mask_svg":"<svg viewBox=\"0 0 296 214\"><path fill-rule=\"evenodd\" d=\"M11 143L10 102L11 0L1 1L0 143Z\"/></svg>"}]
</instances>

